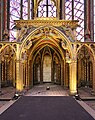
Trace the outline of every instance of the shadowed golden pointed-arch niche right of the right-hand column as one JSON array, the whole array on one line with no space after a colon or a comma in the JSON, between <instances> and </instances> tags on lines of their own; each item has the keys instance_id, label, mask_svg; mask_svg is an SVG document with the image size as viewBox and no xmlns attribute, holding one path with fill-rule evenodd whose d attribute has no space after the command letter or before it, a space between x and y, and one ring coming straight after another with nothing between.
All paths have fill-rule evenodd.
<instances>
[{"instance_id":1,"label":"shadowed golden pointed-arch niche right of the right-hand column","mask_svg":"<svg viewBox=\"0 0 95 120\"><path fill-rule=\"evenodd\" d=\"M77 50L78 86L93 87L94 49L91 43L81 44Z\"/></svg>"}]
</instances>

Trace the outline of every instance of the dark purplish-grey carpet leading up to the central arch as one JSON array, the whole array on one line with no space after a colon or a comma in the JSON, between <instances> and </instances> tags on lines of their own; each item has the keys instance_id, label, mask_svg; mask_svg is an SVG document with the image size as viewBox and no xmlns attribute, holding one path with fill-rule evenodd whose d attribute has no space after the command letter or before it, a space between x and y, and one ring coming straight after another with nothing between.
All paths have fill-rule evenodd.
<instances>
[{"instance_id":1,"label":"dark purplish-grey carpet leading up to the central arch","mask_svg":"<svg viewBox=\"0 0 95 120\"><path fill-rule=\"evenodd\" d=\"M0 120L94 120L72 97L24 96Z\"/></svg>"}]
</instances>

